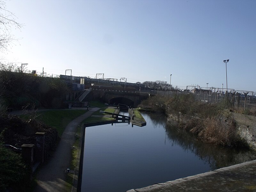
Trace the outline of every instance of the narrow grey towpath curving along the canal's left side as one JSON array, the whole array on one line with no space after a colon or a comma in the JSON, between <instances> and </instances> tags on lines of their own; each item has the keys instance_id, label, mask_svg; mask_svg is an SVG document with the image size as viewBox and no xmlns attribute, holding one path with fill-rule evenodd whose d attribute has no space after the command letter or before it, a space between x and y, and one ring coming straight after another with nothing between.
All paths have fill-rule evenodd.
<instances>
[{"instance_id":1,"label":"narrow grey towpath curving along the canal's left side","mask_svg":"<svg viewBox=\"0 0 256 192\"><path fill-rule=\"evenodd\" d=\"M89 111L77 117L66 126L53 157L36 173L37 185L34 192L70 191L68 183L65 181L66 173L64 171L68 168L71 160L71 150L75 142L76 128L85 118L91 116L93 112L99 109L96 107L89 108Z\"/></svg>"}]
</instances>

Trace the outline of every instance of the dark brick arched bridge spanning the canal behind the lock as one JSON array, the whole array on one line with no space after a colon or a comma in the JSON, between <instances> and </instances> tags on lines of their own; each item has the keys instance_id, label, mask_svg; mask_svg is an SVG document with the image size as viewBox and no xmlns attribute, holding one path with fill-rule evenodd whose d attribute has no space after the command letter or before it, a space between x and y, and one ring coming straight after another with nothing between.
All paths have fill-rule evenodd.
<instances>
[{"instance_id":1,"label":"dark brick arched bridge spanning the canal behind the lock","mask_svg":"<svg viewBox=\"0 0 256 192\"><path fill-rule=\"evenodd\" d=\"M149 93L134 92L124 90L110 90L110 89L93 89L91 90L94 98L105 100L109 104L119 103L132 107L137 107L142 100L149 98Z\"/></svg>"}]
</instances>

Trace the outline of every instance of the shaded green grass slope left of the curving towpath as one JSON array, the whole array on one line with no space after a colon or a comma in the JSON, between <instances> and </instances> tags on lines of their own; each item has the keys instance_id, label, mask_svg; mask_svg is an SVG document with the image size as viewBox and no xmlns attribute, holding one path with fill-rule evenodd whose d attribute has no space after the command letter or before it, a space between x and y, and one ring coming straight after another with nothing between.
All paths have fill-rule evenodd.
<instances>
[{"instance_id":1,"label":"shaded green grass slope left of the curving towpath","mask_svg":"<svg viewBox=\"0 0 256 192\"><path fill-rule=\"evenodd\" d=\"M52 126L57 129L58 135L61 136L68 123L86 113L87 110L72 109L72 110L49 110L37 112L36 119L42 121L44 124ZM21 115L21 118L28 118L28 115Z\"/></svg>"}]
</instances>

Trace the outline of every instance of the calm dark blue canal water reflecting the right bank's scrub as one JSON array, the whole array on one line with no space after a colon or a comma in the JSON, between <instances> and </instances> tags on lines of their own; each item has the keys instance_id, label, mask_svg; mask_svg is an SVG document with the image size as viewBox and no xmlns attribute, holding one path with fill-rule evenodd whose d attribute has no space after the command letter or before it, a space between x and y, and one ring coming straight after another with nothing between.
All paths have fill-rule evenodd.
<instances>
[{"instance_id":1,"label":"calm dark blue canal water reflecting the right bank's scrub","mask_svg":"<svg viewBox=\"0 0 256 192\"><path fill-rule=\"evenodd\" d=\"M245 149L216 148L142 113L144 127L116 123L85 131L82 192L124 192L250 161Z\"/></svg>"}]
</instances>

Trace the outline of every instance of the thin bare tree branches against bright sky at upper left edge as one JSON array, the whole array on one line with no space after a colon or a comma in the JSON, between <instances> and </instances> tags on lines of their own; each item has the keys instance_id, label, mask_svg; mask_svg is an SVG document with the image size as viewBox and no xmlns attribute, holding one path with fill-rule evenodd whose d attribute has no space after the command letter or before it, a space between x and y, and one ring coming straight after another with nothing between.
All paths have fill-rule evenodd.
<instances>
[{"instance_id":1,"label":"thin bare tree branches against bright sky at upper left edge","mask_svg":"<svg viewBox=\"0 0 256 192\"><path fill-rule=\"evenodd\" d=\"M0 50L7 51L8 47L12 46L14 41L18 41L11 34L11 29L21 29L22 24L16 21L18 19L12 12L6 10L4 0L0 0Z\"/></svg>"}]
</instances>

